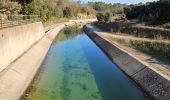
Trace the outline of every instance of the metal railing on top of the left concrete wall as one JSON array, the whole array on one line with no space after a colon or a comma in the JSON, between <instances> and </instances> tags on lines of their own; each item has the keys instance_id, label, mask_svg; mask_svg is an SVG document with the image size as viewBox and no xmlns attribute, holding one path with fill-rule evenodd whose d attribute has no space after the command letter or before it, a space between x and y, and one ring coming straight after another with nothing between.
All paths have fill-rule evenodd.
<instances>
[{"instance_id":1,"label":"metal railing on top of the left concrete wall","mask_svg":"<svg viewBox=\"0 0 170 100\"><path fill-rule=\"evenodd\" d=\"M1 15L0 29L40 21L39 15Z\"/></svg>"}]
</instances>

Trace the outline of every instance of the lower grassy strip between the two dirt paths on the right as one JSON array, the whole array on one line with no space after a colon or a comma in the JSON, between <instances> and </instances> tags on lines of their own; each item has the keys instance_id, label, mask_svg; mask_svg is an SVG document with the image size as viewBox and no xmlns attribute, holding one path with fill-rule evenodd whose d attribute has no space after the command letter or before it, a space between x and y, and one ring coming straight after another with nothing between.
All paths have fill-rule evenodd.
<instances>
[{"instance_id":1,"label":"lower grassy strip between the two dirt paths on the right","mask_svg":"<svg viewBox=\"0 0 170 100\"><path fill-rule=\"evenodd\" d=\"M170 41L112 36L111 40L170 64Z\"/></svg>"}]
</instances>

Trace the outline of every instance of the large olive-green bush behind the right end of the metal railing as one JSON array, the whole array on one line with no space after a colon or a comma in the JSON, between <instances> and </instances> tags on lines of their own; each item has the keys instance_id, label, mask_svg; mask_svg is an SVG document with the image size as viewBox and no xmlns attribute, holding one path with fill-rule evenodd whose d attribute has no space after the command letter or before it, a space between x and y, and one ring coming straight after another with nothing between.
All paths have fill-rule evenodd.
<instances>
[{"instance_id":1,"label":"large olive-green bush behind the right end of the metal railing","mask_svg":"<svg viewBox=\"0 0 170 100\"><path fill-rule=\"evenodd\" d=\"M62 10L51 6L46 1L39 0L34 0L31 3L26 4L22 13L26 15L40 15L43 22L53 17L63 17Z\"/></svg>"}]
</instances>

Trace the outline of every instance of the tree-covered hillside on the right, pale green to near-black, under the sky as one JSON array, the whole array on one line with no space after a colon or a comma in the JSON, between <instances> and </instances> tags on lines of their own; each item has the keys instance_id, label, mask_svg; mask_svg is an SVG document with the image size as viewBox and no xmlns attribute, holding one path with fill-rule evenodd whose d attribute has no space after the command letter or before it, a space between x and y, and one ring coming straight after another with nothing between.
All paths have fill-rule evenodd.
<instances>
[{"instance_id":1,"label":"tree-covered hillside on the right, pale green to near-black, under the sky","mask_svg":"<svg viewBox=\"0 0 170 100\"><path fill-rule=\"evenodd\" d=\"M162 25L170 22L170 1L169 0L159 0L147 3L138 4L109 4L103 2L89 2L89 5L93 7L99 14L97 18L110 15L125 15L127 19L138 19L142 22L147 22L151 25ZM101 14L102 12L102 14ZM104 14L104 13L105 14ZM108 12L108 13L106 13ZM124 16L123 16L124 17ZM99 22L103 22L99 18ZM164 27L169 27L167 24Z\"/></svg>"}]
</instances>

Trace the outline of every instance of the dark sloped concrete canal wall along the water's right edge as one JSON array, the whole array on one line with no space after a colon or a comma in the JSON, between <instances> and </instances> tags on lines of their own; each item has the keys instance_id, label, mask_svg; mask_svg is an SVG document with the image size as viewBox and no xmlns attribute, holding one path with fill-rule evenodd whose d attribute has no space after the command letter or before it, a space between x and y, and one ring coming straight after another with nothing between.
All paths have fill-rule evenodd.
<instances>
[{"instance_id":1,"label":"dark sloped concrete canal wall along the water's right edge","mask_svg":"<svg viewBox=\"0 0 170 100\"><path fill-rule=\"evenodd\" d=\"M103 39L89 27L84 26L84 31L152 99L170 99L170 81L168 79L150 69L148 65L136 59L135 56Z\"/></svg>"}]
</instances>

